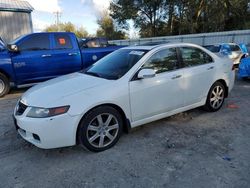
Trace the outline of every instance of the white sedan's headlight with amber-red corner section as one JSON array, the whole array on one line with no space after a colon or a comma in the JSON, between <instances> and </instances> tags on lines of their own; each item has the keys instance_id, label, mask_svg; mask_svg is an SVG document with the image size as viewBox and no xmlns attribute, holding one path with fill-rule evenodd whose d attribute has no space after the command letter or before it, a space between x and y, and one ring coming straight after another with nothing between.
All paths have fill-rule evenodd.
<instances>
[{"instance_id":1,"label":"white sedan's headlight with amber-red corner section","mask_svg":"<svg viewBox=\"0 0 250 188\"><path fill-rule=\"evenodd\" d=\"M27 114L27 117L31 118L46 118L57 116L60 114L64 114L68 112L69 106L61 106L56 108L38 108L38 107L31 107L30 111Z\"/></svg>"}]
</instances>

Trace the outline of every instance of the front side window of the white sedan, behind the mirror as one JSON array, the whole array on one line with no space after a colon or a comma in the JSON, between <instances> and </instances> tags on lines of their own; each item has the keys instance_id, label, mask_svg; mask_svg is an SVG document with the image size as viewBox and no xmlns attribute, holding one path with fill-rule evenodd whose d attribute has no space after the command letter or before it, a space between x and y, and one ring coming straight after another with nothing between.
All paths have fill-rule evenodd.
<instances>
[{"instance_id":1,"label":"front side window of the white sedan, behind the mirror","mask_svg":"<svg viewBox=\"0 0 250 188\"><path fill-rule=\"evenodd\" d=\"M149 60L142 66L142 68L154 69L156 74L176 69L176 48L169 48L156 52L149 58Z\"/></svg>"}]
</instances>

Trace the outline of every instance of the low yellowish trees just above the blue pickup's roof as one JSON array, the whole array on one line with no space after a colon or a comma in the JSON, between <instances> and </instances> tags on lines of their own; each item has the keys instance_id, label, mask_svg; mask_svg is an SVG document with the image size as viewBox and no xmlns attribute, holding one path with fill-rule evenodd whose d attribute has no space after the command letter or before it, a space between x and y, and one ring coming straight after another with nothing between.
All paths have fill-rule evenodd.
<instances>
[{"instance_id":1,"label":"low yellowish trees just above the blue pickup's roof","mask_svg":"<svg viewBox=\"0 0 250 188\"><path fill-rule=\"evenodd\" d=\"M73 32L79 38L84 38L84 37L89 36L88 32L83 27L77 28L71 22L59 23L58 25L52 24L52 25L48 26L47 28L45 28L44 31L46 31L46 32L57 32L57 31Z\"/></svg>"}]
</instances>

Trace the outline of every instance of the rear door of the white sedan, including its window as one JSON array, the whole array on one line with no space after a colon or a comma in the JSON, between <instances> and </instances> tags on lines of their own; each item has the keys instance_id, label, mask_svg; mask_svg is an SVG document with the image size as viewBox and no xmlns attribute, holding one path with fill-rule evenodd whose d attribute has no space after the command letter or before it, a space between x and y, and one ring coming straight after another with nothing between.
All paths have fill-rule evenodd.
<instances>
[{"instance_id":1,"label":"rear door of the white sedan, including its window","mask_svg":"<svg viewBox=\"0 0 250 188\"><path fill-rule=\"evenodd\" d=\"M195 47L180 47L183 61L185 106L200 102L213 84L215 63L206 52Z\"/></svg>"}]
</instances>

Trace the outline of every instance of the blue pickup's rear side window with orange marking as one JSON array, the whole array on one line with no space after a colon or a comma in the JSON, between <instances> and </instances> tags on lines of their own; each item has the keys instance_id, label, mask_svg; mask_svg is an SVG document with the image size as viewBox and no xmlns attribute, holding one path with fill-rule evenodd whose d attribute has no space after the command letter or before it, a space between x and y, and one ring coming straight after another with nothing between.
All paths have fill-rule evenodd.
<instances>
[{"instance_id":1,"label":"blue pickup's rear side window with orange marking","mask_svg":"<svg viewBox=\"0 0 250 188\"><path fill-rule=\"evenodd\" d=\"M64 34L55 34L56 49L72 49L73 45L70 36Z\"/></svg>"}]
</instances>

